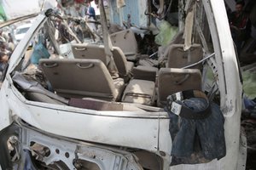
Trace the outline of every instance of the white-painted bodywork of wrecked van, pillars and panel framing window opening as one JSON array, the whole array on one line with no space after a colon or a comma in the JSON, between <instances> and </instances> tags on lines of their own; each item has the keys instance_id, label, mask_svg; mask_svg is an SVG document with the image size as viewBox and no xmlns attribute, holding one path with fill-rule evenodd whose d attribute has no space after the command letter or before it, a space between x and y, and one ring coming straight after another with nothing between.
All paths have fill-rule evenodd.
<instances>
[{"instance_id":1,"label":"white-painted bodywork of wrecked van, pillars and panel framing window opening","mask_svg":"<svg viewBox=\"0 0 256 170\"><path fill-rule=\"evenodd\" d=\"M213 19L211 32L219 77L221 106L225 114L225 139L227 155L220 161L207 164L180 165L171 169L236 169L239 153L241 83L239 82L236 54L224 1L203 0L208 19ZM9 72L18 64L38 25L44 22L40 15L36 24L16 48L9 65L7 79L0 94L0 128L11 123L10 116L19 116L41 130L73 139L93 141L170 153L172 140L166 113L90 111L63 105L50 105L27 101L13 86ZM216 25L215 25L216 24ZM7 81L8 80L8 81ZM118 114L120 113L120 114ZM127 117L129 116L129 117Z\"/></svg>"}]
</instances>

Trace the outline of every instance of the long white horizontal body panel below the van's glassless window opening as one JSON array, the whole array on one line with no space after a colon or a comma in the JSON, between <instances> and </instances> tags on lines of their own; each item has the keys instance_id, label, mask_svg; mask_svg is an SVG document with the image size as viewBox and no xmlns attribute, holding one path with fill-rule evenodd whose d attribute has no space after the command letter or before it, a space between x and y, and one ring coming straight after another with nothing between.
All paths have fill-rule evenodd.
<instances>
[{"instance_id":1,"label":"long white horizontal body panel below the van's glassless window opening","mask_svg":"<svg viewBox=\"0 0 256 170\"><path fill-rule=\"evenodd\" d=\"M48 107L39 106L39 102L28 102L26 99L22 99L23 96L20 96L22 99L20 100L15 94L11 92L8 100L13 111L12 116L19 116L25 122L45 132L102 144L116 144L152 151L161 150L167 154L171 152L169 119L166 117L160 119L158 113L154 117L146 118L144 116L143 118L132 116L134 112L131 113L131 116L129 112L126 116L111 116L79 108L68 111L68 108L72 107L49 104ZM55 106L56 109L52 109L50 106ZM64 111L65 109L67 111ZM78 112L78 109L83 112ZM161 141L159 144L160 130L161 138L167 137L169 140Z\"/></svg>"}]
</instances>

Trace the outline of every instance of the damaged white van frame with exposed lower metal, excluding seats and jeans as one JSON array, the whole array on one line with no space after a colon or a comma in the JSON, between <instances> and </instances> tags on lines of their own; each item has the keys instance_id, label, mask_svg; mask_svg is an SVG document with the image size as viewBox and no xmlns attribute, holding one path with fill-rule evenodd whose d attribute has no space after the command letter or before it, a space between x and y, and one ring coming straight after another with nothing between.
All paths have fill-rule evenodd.
<instances>
[{"instance_id":1,"label":"damaged white van frame with exposed lower metal, excluding seats and jeans","mask_svg":"<svg viewBox=\"0 0 256 170\"><path fill-rule=\"evenodd\" d=\"M241 77L224 1L200 2L205 10L213 47L209 53L207 43L203 44L207 52L204 65L208 65L215 76L216 86L212 91L219 95L219 106L224 114L226 155L223 158L170 167L170 118L160 107L127 106L121 102L117 105L122 105L122 111L95 111L26 99L13 77L15 71L21 71L20 63L32 38L50 22L50 15L39 14L26 37L15 48L9 68L3 75L0 93L1 168L245 169L246 139L240 129ZM54 39L52 43L57 49ZM205 42L203 36L201 40ZM202 83L205 82L206 76L202 77Z\"/></svg>"}]
</instances>

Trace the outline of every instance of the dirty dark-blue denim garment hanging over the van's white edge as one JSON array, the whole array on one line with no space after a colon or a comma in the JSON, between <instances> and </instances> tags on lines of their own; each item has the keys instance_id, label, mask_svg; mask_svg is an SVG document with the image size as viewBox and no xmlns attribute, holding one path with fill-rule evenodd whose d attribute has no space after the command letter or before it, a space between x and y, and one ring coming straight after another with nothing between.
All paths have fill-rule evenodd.
<instances>
[{"instance_id":1,"label":"dirty dark-blue denim garment hanging over the van's white edge","mask_svg":"<svg viewBox=\"0 0 256 170\"><path fill-rule=\"evenodd\" d=\"M185 99L181 105L202 111L207 107L207 100ZM205 119L186 119L168 111L172 137L171 165L205 163L225 156L224 116L218 105L211 103L210 107L212 114Z\"/></svg>"}]
</instances>

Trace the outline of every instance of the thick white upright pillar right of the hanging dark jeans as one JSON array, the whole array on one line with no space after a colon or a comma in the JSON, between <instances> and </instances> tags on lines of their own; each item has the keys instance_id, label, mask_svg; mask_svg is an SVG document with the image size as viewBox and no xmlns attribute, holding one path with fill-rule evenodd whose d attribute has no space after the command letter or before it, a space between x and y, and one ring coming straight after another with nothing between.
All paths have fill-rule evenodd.
<instances>
[{"instance_id":1,"label":"thick white upright pillar right of the hanging dark jeans","mask_svg":"<svg viewBox=\"0 0 256 170\"><path fill-rule=\"evenodd\" d=\"M214 28L210 28L212 35L218 35L218 38L212 38L214 49L217 56L222 60L217 60L218 71L224 70L223 74L219 74L219 90L221 95L221 110L224 113L224 133L226 142L226 156L221 159L221 168L225 170L236 169L237 159L239 156L239 139L240 139L240 117L241 117L241 82L239 79L239 71L236 63L236 54L234 44L230 35L230 26L227 22L227 14L224 8L224 1L203 1L204 5L211 4L211 11L208 11L207 18L215 16L214 22L217 32ZM222 58L221 58L222 57ZM222 81L224 80L224 81ZM238 98L237 98L238 97Z\"/></svg>"}]
</instances>

